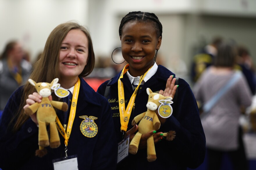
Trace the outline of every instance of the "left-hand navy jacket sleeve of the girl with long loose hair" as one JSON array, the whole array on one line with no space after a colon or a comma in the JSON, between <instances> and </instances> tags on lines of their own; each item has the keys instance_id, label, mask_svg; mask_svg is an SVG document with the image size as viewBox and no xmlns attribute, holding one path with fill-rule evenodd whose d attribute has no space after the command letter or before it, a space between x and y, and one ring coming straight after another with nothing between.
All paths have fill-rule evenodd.
<instances>
[{"instance_id":1,"label":"left-hand navy jacket sleeve of the girl with long loose hair","mask_svg":"<svg viewBox=\"0 0 256 170\"><path fill-rule=\"evenodd\" d=\"M25 160L35 155L38 147L38 127L29 118L15 133L12 132L14 123L9 125L19 108L22 87L17 89L6 104L0 120L0 168L17 169Z\"/></svg>"}]
</instances>

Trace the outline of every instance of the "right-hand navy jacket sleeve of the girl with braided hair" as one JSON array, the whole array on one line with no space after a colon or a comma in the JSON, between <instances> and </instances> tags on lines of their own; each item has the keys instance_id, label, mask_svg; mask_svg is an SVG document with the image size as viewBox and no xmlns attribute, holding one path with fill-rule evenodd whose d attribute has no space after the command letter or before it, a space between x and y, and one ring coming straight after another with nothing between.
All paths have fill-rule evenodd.
<instances>
[{"instance_id":1,"label":"right-hand navy jacket sleeve of the girl with braided hair","mask_svg":"<svg viewBox=\"0 0 256 170\"><path fill-rule=\"evenodd\" d=\"M173 115L162 125L163 129L174 130L176 137L170 141L172 154L182 158L183 164L196 168L205 158L205 134L202 128L195 97L189 85L179 80L178 95Z\"/></svg>"}]
</instances>

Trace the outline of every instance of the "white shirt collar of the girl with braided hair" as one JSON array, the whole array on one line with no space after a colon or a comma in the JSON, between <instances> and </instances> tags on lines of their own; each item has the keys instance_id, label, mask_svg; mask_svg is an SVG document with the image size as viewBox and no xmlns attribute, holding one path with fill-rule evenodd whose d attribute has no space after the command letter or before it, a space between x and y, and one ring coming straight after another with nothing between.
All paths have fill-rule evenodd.
<instances>
[{"instance_id":1,"label":"white shirt collar of the girl with braided hair","mask_svg":"<svg viewBox=\"0 0 256 170\"><path fill-rule=\"evenodd\" d=\"M153 67L147 72L146 76L143 78L143 81L141 82L141 84L144 84L145 82L147 82L157 72L157 68L158 68L157 63L154 63ZM129 78L131 84L134 84L134 85L139 84L139 81L141 78L140 76L138 76L138 77L131 76L131 74L129 73L129 70L127 71L127 76Z\"/></svg>"}]
</instances>

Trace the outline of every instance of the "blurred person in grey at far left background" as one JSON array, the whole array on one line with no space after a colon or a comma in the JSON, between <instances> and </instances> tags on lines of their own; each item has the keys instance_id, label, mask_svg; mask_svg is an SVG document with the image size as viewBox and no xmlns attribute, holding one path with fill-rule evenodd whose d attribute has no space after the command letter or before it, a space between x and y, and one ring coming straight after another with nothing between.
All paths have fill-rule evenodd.
<instances>
[{"instance_id":1,"label":"blurred person in grey at far left background","mask_svg":"<svg viewBox=\"0 0 256 170\"><path fill-rule=\"evenodd\" d=\"M29 78L31 64L23 57L24 50L18 41L8 42L0 56L0 112L15 89Z\"/></svg>"}]
</instances>

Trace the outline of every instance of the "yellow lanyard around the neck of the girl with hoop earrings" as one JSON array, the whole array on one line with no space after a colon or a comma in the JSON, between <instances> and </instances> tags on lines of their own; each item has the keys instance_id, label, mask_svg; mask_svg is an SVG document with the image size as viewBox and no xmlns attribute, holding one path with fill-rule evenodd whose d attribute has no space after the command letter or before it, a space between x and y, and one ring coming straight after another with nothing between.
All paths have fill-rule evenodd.
<instances>
[{"instance_id":1,"label":"yellow lanyard around the neck of the girl with hoop earrings","mask_svg":"<svg viewBox=\"0 0 256 170\"><path fill-rule=\"evenodd\" d=\"M147 70L147 72L152 68L152 66ZM125 95L124 95L124 85L121 81L121 78L123 78L123 75L129 70L129 64L127 64L124 69L122 70L122 73L120 75L120 78L118 79L118 99L119 99L119 112L120 112L120 122L121 122L121 131L127 131L128 128L128 122L129 118L131 116L131 109L134 105L135 98L139 89L139 86L141 82L143 81L143 78L146 76L147 72L145 72L139 81L138 86L134 90L129 103L127 105L127 108L125 109Z\"/></svg>"}]
</instances>

